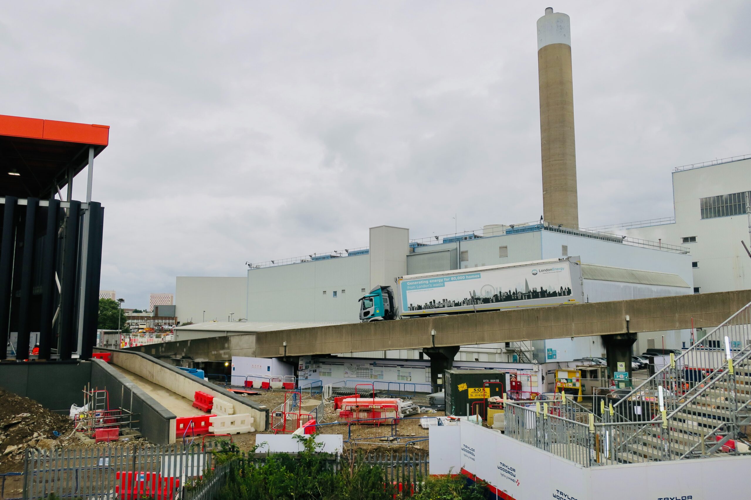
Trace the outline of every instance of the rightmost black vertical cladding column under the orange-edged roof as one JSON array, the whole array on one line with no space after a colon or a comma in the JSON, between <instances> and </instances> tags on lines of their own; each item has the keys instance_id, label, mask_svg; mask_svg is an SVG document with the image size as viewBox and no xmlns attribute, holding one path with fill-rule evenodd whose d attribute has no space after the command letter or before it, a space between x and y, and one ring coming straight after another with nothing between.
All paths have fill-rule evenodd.
<instances>
[{"instance_id":1,"label":"rightmost black vertical cladding column under the orange-edged roof","mask_svg":"<svg viewBox=\"0 0 751 500\"><path fill-rule=\"evenodd\" d=\"M101 275L101 240L104 229L104 208L101 203L89 203L89 241L86 248L86 297L83 304L83 339L81 359L92 357L99 317L99 277Z\"/></svg>"}]
</instances>

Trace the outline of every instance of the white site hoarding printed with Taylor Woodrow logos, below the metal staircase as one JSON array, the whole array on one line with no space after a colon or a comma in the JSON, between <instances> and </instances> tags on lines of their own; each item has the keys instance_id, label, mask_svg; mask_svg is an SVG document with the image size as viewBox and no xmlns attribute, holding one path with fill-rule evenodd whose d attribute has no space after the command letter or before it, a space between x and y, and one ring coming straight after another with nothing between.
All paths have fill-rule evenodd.
<instances>
[{"instance_id":1,"label":"white site hoarding printed with Taylor Woodrow logos, below the metal staircase","mask_svg":"<svg viewBox=\"0 0 751 500\"><path fill-rule=\"evenodd\" d=\"M430 474L459 471L485 481L506 500L725 500L748 499L751 457L671 460L583 467L495 430L469 422L456 433L430 429ZM448 439L447 439L448 438ZM433 467L433 445L436 467Z\"/></svg>"}]
</instances>

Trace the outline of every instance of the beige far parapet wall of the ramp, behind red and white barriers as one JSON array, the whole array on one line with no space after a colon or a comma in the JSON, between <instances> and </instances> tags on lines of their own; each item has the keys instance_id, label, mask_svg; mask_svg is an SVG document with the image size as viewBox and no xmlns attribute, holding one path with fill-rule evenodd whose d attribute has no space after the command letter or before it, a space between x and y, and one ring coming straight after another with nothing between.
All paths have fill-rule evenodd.
<instances>
[{"instance_id":1,"label":"beige far parapet wall of the ramp, behind red and white barriers","mask_svg":"<svg viewBox=\"0 0 751 500\"><path fill-rule=\"evenodd\" d=\"M159 361L140 352L128 352L118 349L96 350L112 352L113 364L161 385L165 389L179 394L186 399L193 400L195 391L204 391L214 397L230 401L234 407L235 414L249 413L252 416L256 430L262 431L268 427L269 409L267 406L259 405L251 400L236 396L229 391L218 388L216 385L170 366L164 363L164 361Z\"/></svg>"}]
</instances>

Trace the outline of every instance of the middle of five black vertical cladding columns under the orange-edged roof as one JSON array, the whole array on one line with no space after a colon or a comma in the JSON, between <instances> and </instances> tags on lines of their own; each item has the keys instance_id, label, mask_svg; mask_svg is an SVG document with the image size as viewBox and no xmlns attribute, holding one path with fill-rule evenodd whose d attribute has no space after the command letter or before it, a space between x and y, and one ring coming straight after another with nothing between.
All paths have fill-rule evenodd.
<instances>
[{"instance_id":1,"label":"middle of five black vertical cladding columns under the orange-edged roof","mask_svg":"<svg viewBox=\"0 0 751 500\"><path fill-rule=\"evenodd\" d=\"M47 233L42 248L42 307L39 314L39 359L50 359L55 338L52 319L55 316L55 263L57 253L57 223L60 202L50 199L47 208Z\"/></svg>"}]
</instances>

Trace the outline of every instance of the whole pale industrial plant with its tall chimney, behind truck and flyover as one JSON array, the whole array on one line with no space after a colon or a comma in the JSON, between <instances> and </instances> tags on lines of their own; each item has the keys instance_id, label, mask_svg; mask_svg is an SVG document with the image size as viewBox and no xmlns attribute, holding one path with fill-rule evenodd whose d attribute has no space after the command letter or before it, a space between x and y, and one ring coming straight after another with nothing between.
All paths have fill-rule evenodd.
<instances>
[{"instance_id":1,"label":"whole pale industrial plant with its tall chimney, behind truck and flyover","mask_svg":"<svg viewBox=\"0 0 751 500\"><path fill-rule=\"evenodd\" d=\"M422 239L410 238L406 228L378 226L370 228L367 247L247 262L244 277L177 277L176 315L180 322L201 325L178 328L176 335L206 337L210 332L231 335L294 328L291 324L357 322L359 299L366 292L394 286L406 275L547 259L573 257L581 265L581 302L751 288L751 259L746 260L740 245L748 230L748 205L739 193L751 190L751 159L677 169L675 217L659 220L659 225L579 229L569 16L546 9L537 33L544 214L540 220ZM634 349L686 348L696 335L639 332ZM423 359L420 351L332 354ZM604 354L599 337L583 337L463 346L455 361L566 363Z\"/></svg>"}]
</instances>

